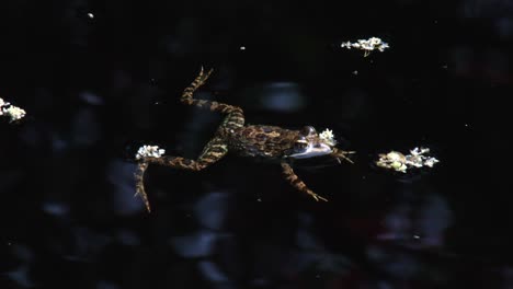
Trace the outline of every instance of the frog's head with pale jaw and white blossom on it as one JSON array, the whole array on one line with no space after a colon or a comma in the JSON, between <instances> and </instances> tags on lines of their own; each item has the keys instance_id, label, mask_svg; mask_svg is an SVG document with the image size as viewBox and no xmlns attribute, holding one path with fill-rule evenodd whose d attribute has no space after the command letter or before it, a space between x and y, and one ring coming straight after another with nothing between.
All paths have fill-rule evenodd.
<instances>
[{"instance_id":1,"label":"frog's head with pale jaw and white blossom on it","mask_svg":"<svg viewBox=\"0 0 513 289\"><path fill-rule=\"evenodd\" d=\"M326 155L333 152L337 144L333 132L330 129L317 134L311 126L306 126L294 141L294 148L287 158L290 159L308 159L319 155Z\"/></svg>"}]
</instances>

